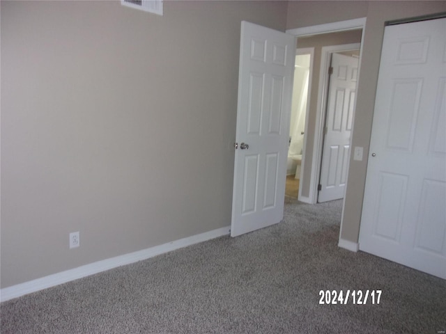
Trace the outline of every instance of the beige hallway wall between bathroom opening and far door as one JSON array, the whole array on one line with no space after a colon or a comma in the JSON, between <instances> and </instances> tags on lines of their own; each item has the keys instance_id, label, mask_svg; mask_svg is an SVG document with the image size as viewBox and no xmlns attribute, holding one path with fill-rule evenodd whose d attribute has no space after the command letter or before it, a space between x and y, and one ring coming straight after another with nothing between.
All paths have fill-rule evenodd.
<instances>
[{"instance_id":1,"label":"beige hallway wall between bathroom opening and far door","mask_svg":"<svg viewBox=\"0 0 446 334\"><path fill-rule=\"evenodd\" d=\"M311 37L298 38L298 48L300 47L314 47L314 61L313 61L313 75L312 87L309 99L309 113L308 113L308 131L307 131L307 145L305 151L305 166L303 171L300 186L302 187L302 196L309 197L309 187L311 180L314 151L314 131L316 129L316 113L318 104L318 88L319 75L321 73L321 57L322 48L329 45L344 45L361 42L362 30L342 31L339 33L323 33L321 35L314 35Z\"/></svg>"}]
</instances>

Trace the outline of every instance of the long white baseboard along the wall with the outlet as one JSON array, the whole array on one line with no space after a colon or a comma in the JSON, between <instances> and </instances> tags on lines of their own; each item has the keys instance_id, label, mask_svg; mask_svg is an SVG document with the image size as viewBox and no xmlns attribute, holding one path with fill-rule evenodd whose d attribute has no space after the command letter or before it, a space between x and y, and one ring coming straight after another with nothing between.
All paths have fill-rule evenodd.
<instances>
[{"instance_id":1,"label":"long white baseboard along the wall with the outlet","mask_svg":"<svg viewBox=\"0 0 446 334\"><path fill-rule=\"evenodd\" d=\"M230 226L227 226L225 228L218 228L217 230L196 234L192 237L178 239L176 241L171 241L160 246L146 248L137 252L112 257L107 260L86 264L84 266L67 271L61 271L60 273L54 273L43 278L38 278L36 280L30 280L29 282L13 285L12 287L5 287L0 290L0 301L8 301L10 299L24 296L25 294L31 294L32 292L47 289L48 287L54 287L56 285L70 282L71 280L77 280L78 278L83 278L95 273L100 273L101 271L107 271L109 269L121 267L126 264L146 260L150 257L170 252L171 250L176 250L178 248L198 244L199 242L222 237L226 234L229 234L229 229Z\"/></svg>"}]
</instances>

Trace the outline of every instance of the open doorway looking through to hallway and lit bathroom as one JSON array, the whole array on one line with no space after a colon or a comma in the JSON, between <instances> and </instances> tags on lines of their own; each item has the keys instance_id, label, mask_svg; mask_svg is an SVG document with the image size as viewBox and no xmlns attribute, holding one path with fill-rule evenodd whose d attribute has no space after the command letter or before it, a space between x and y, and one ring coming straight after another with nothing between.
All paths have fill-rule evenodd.
<instances>
[{"instance_id":1,"label":"open doorway looking through to hallway and lit bathroom","mask_svg":"<svg viewBox=\"0 0 446 334\"><path fill-rule=\"evenodd\" d=\"M362 30L357 29L298 38L298 46L303 45L305 47L297 49L295 58L286 196L299 199L303 197L302 202L309 202L306 200L306 193L311 193L307 189L310 187L312 177L315 177L316 186L318 184L323 185L322 191L326 193L328 189L330 196L323 196L319 200L320 191L316 189L314 202L325 202L326 200L344 197L361 37ZM337 42L344 42L345 44L337 45ZM339 77L337 72L330 74L333 54L341 54L345 58L352 58L353 63L356 63L356 65L351 66L348 62L349 67L346 70L348 73L345 72L348 78L344 78L350 86L353 84L354 88L347 87L345 89L346 87L342 87L341 90L338 90L337 86L334 86L333 82L330 81L330 78ZM312 80L313 74L314 81ZM336 82L343 85L339 80ZM334 100L337 101L335 104L329 103L330 91L334 92ZM339 97L342 97L342 100L339 100ZM334 110L332 110L333 108ZM343 143L331 143L333 145L330 145L332 136L326 136L325 131L330 128L330 125L325 123L326 118L333 118L333 115L336 116L334 120L339 121L339 129L336 129L336 132L342 130L342 135L345 138ZM317 118L319 118L318 122L321 122L324 129L319 134ZM321 138L318 138L317 134ZM330 139L330 141L325 141L325 139ZM320 145L315 145L318 141ZM334 156L326 145L328 145L328 148L337 146L337 150L333 150L337 154ZM315 162L316 165L313 162L315 158L318 158ZM308 166L306 170L302 168L302 161L305 159L309 161L307 165L310 166L310 170ZM333 171L336 173L333 173ZM332 196L332 193L337 193L337 196Z\"/></svg>"}]
</instances>

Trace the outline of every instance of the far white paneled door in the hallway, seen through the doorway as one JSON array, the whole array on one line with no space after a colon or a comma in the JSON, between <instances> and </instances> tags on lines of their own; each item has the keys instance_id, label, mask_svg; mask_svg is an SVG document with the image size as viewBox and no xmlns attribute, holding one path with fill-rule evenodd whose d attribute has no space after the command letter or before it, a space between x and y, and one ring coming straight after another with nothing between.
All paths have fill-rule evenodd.
<instances>
[{"instance_id":1,"label":"far white paneled door in the hallway, seen through the doorway","mask_svg":"<svg viewBox=\"0 0 446 334\"><path fill-rule=\"evenodd\" d=\"M358 59L332 54L318 202L344 198Z\"/></svg>"}]
</instances>

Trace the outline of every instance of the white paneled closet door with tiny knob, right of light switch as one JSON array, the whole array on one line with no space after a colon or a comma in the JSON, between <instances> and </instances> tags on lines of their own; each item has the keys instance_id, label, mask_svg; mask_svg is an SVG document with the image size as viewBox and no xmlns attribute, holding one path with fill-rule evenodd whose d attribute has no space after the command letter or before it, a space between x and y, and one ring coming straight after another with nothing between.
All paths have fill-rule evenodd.
<instances>
[{"instance_id":1,"label":"white paneled closet door with tiny knob, right of light switch","mask_svg":"<svg viewBox=\"0 0 446 334\"><path fill-rule=\"evenodd\" d=\"M446 278L446 19L387 26L360 250Z\"/></svg>"}]
</instances>

